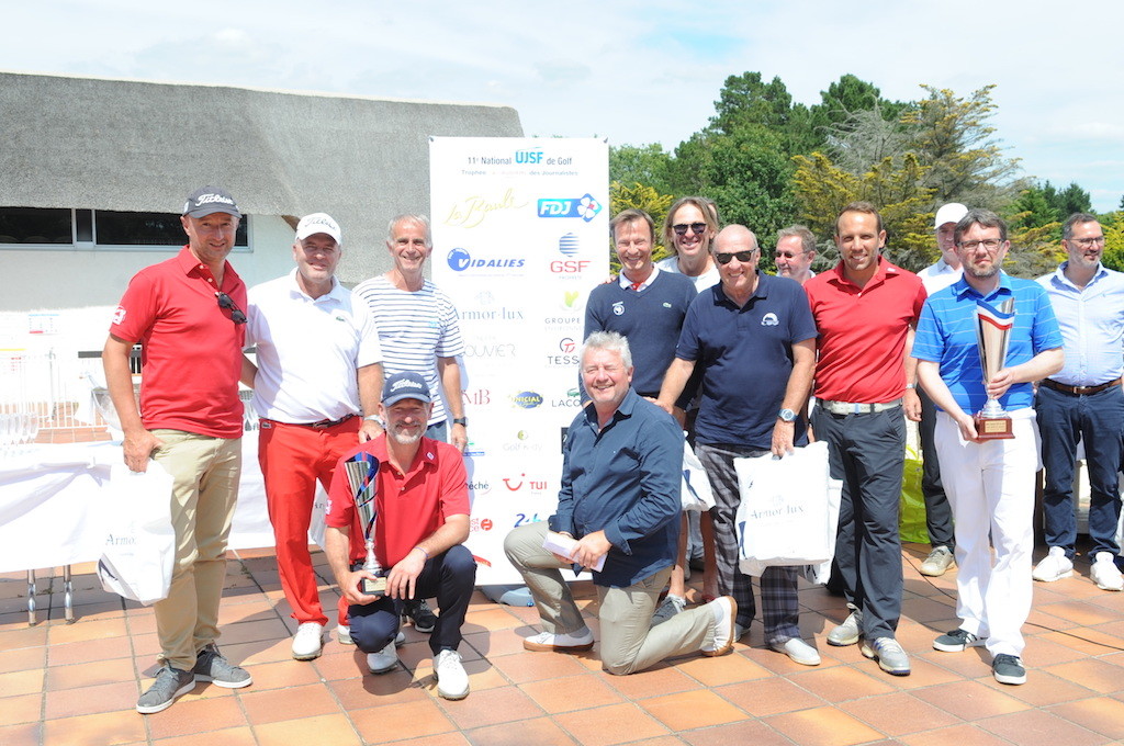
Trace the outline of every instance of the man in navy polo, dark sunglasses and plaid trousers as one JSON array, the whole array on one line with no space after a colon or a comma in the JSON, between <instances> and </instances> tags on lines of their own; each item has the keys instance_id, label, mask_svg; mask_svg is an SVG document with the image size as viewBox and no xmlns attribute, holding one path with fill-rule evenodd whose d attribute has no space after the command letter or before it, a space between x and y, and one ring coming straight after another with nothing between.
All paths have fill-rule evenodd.
<instances>
[{"instance_id":1,"label":"man in navy polo, dark sunglasses and plaid trousers","mask_svg":"<svg viewBox=\"0 0 1124 746\"><path fill-rule=\"evenodd\" d=\"M803 412L816 364L816 327L799 283L758 271L761 249L749 228L727 226L714 246L722 282L687 311L656 403L670 411L701 367L695 452L714 488L718 590L737 601L741 636L754 603L750 577L737 566L734 458L782 456L807 442ZM796 567L769 567L761 575L765 642L797 663L816 665L819 654L800 639L796 583Z\"/></svg>"}]
</instances>

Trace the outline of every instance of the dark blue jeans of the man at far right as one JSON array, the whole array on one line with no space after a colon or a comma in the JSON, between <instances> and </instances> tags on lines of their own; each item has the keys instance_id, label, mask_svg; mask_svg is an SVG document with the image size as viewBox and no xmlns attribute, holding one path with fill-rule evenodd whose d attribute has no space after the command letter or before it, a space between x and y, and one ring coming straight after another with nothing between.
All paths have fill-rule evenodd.
<instances>
[{"instance_id":1,"label":"dark blue jeans of the man at far right","mask_svg":"<svg viewBox=\"0 0 1124 746\"><path fill-rule=\"evenodd\" d=\"M1121 466L1124 427L1124 392L1121 386L1087 395L1075 395L1039 388L1034 409L1042 434L1042 466L1045 488L1042 512L1046 544L1066 549L1073 557L1077 519L1073 516L1073 470L1077 443L1085 444L1085 464L1089 473L1090 556L1097 552L1116 555L1116 524L1121 501L1116 472Z\"/></svg>"}]
</instances>

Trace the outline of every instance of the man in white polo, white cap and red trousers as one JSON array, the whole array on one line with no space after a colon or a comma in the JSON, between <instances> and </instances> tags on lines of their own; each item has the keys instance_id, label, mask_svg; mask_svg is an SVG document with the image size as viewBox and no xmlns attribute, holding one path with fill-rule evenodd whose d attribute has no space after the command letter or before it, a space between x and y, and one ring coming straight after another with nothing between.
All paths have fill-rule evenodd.
<instances>
[{"instance_id":1,"label":"man in white polo, white cap and red trousers","mask_svg":"<svg viewBox=\"0 0 1124 746\"><path fill-rule=\"evenodd\" d=\"M324 212L297 225L297 267L250 290L246 345L257 346L243 383L253 385L261 417L257 461L277 543L278 573L299 624L292 657L320 654L328 618L308 552L317 480L328 488L339 457L381 433L375 420L382 388L382 353L374 320L335 278L339 226ZM347 608L338 612L346 642Z\"/></svg>"}]
</instances>

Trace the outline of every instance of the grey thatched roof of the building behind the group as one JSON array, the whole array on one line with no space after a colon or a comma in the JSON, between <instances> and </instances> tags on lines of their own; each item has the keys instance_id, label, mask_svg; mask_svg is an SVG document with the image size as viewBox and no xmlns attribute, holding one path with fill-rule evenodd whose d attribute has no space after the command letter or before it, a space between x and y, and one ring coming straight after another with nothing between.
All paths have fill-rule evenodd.
<instances>
[{"instance_id":1,"label":"grey thatched roof of the building behind the group","mask_svg":"<svg viewBox=\"0 0 1124 746\"><path fill-rule=\"evenodd\" d=\"M179 212L215 183L250 215L329 212L351 248L428 212L430 135L523 135L509 107L21 73L0 121L0 206Z\"/></svg>"}]
</instances>

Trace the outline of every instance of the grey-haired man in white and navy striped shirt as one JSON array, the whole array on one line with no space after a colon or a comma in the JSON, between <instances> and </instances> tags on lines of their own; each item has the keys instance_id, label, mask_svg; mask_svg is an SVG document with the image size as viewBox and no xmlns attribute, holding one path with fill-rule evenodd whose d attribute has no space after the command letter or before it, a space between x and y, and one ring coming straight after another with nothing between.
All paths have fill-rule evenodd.
<instances>
[{"instance_id":1,"label":"grey-haired man in white and navy striped shirt","mask_svg":"<svg viewBox=\"0 0 1124 746\"><path fill-rule=\"evenodd\" d=\"M433 413L426 437L447 440L463 453L469 436L456 356L464 353L464 342L453 302L423 272L433 251L429 221L420 215L391 219L387 251L395 269L352 292L374 316L386 375L415 371L429 384Z\"/></svg>"}]
</instances>

